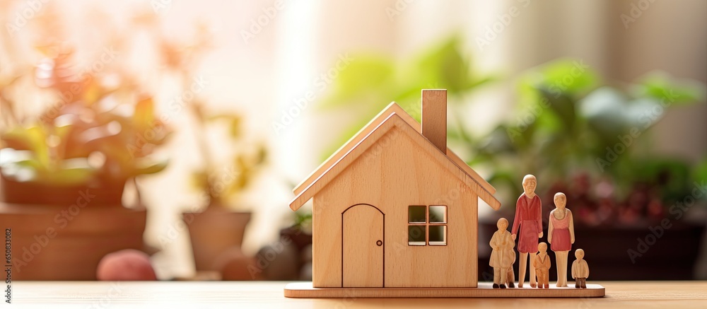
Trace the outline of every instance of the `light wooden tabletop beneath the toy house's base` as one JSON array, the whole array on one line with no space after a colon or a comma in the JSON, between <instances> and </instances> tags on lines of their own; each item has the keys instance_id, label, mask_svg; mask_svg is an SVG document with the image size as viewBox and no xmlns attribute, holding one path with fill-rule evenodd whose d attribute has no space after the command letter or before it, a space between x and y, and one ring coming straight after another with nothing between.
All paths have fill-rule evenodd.
<instances>
[{"instance_id":1,"label":"light wooden tabletop beneath the toy house's base","mask_svg":"<svg viewBox=\"0 0 707 309\"><path fill-rule=\"evenodd\" d=\"M37 308L707 308L707 281L602 281L604 298L285 298L286 282L16 281L13 305ZM7 305L7 304L6 304ZM59 305L58 307L56 305ZM142 306L136 306L142 305ZM185 307L187 308L187 307Z\"/></svg>"}]
</instances>

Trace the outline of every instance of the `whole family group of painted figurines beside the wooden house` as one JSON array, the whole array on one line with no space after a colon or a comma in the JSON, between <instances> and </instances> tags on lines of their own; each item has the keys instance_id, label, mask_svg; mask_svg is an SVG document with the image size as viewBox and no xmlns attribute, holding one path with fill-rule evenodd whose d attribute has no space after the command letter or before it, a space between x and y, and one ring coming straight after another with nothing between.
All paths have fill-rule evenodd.
<instances>
[{"instance_id":1,"label":"whole family group of painted figurines beside the wooden house","mask_svg":"<svg viewBox=\"0 0 707 309\"><path fill-rule=\"evenodd\" d=\"M538 243L542 238L542 204L535 194L537 180L533 175L523 177L523 193L518 197L513 219L513 229L509 233L508 220L498 219L498 231L491 237L491 260L493 267L493 288L514 288L515 274L515 240L518 238L520 266L518 267L518 287L523 287L527 257L530 254L530 286L532 288L549 288L548 272L550 257L547 255L547 244ZM555 209L550 211L547 231L547 242L550 250L555 252L557 262L557 287L567 287L567 256L574 243L574 224L572 212L566 209L567 197L558 192L554 197ZM584 250L575 250L575 260L572 263L572 278L575 288L587 288L589 266L584 260Z\"/></svg>"}]
</instances>

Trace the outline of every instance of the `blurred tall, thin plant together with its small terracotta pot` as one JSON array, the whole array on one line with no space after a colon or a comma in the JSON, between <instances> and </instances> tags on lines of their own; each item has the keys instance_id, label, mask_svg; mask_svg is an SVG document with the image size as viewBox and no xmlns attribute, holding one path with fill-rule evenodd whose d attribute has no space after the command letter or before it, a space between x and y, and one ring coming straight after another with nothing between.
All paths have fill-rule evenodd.
<instances>
[{"instance_id":1,"label":"blurred tall, thin plant together with its small terracotta pot","mask_svg":"<svg viewBox=\"0 0 707 309\"><path fill-rule=\"evenodd\" d=\"M148 14L152 16L152 14ZM150 21L153 17L143 16ZM247 139L243 134L243 117L237 112L212 112L202 93L198 74L201 59L213 46L211 34L203 24L194 27L196 33L188 40L174 41L159 30L149 28L153 42L162 60L163 79L176 81L182 91L180 110L193 118L193 132L203 165L192 173L192 185L203 197L203 204L191 207L194 211L182 213L182 220L189 231L194 265L197 271L217 270L219 255L228 250L240 250L245 228L252 213L242 204L241 195L264 165L267 151L262 144ZM188 95L187 95L188 94ZM225 129L225 130L223 130ZM209 136L226 132L219 151L212 151ZM225 141L225 142L224 142ZM226 163L222 150L230 148ZM216 156L218 154L218 156ZM230 205L238 205L230 208Z\"/></svg>"}]
</instances>

